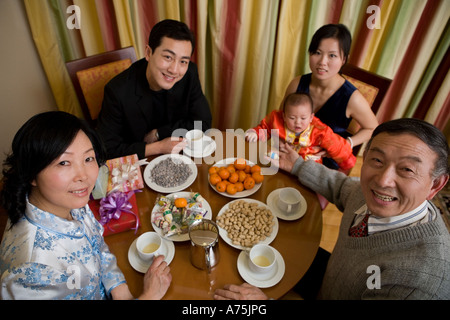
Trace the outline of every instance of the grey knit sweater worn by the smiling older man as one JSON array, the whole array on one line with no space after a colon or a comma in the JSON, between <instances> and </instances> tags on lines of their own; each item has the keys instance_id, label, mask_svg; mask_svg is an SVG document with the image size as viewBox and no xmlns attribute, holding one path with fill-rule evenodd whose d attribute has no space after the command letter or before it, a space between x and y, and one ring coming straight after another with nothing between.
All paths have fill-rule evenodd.
<instances>
[{"instance_id":1,"label":"grey knit sweater worn by the smiling older man","mask_svg":"<svg viewBox=\"0 0 450 320\"><path fill-rule=\"evenodd\" d=\"M359 179L301 158L291 173L343 212L319 298L450 299L450 235L440 214L429 223L352 238L355 211L365 204Z\"/></svg>"}]
</instances>

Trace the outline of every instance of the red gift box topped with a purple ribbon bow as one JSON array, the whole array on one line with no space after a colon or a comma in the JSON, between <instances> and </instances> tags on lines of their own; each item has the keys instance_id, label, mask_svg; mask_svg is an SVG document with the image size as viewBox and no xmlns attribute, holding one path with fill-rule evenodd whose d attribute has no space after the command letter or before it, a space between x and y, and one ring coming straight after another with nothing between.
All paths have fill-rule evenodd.
<instances>
[{"instance_id":1,"label":"red gift box topped with a purple ribbon bow","mask_svg":"<svg viewBox=\"0 0 450 320\"><path fill-rule=\"evenodd\" d=\"M103 236L139 228L139 211L136 192L114 191L101 200L90 200L89 207L95 218L103 225Z\"/></svg>"}]
</instances>

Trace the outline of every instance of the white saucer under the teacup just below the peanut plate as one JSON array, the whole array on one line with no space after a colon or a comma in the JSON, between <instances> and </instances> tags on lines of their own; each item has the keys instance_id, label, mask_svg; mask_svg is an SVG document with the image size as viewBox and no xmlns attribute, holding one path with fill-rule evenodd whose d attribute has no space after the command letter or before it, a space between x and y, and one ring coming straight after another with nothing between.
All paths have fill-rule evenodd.
<instances>
[{"instance_id":1,"label":"white saucer under the teacup just below the peanut plate","mask_svg":"<svg viewBox=\"0 0 450 320\"><path fill-rule=\"evenodd\" d=\"M277 261L275 270L269 275L255 274L252 270L250 270L248 266L250 260L248 253L246 251L241 251L237 262L238 271L245 281L258 288L269 288L280 282L280 280L284 276L284 260L281 254L275 248L272 247L272 249L275 251L275 259Z\"/></svg>"}]
</instances>

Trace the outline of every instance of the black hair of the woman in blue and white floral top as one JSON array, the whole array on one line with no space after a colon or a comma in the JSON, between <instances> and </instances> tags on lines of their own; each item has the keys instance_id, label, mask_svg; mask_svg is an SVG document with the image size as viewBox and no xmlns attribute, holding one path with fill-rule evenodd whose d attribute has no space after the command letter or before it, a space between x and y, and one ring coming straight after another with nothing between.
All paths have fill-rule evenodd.
<instances>
[{"instance_id":1,"label":"black hair of the woman in blue and white floral top","mask_svg":"<svg viewBox=\"0 0 450 320\"><path fill-rule=\"evenodd\" d=\"M31 117L17 131L12 151L3 163L3 189L0 203L13 226L24 214L31 183L83 131L92 143L98 165L105 149L96 131L84 120L63 111L49 111Z\"/></svg>"}]
</instances>

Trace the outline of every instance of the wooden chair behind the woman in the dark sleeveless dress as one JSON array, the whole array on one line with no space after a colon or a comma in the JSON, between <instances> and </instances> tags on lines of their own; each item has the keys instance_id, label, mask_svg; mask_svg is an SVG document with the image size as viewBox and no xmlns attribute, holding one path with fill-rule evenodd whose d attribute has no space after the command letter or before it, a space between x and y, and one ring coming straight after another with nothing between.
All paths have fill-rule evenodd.
<instances>
[{"instance_id":1,"label":"wooden chair behind the woman in the dark sleeveless dress","mask_svg":"<svg viewBox=\"0 0 450 320\"><path fill-rule=\"evenodd\" d=\"M378 109L380 109L381 103L383 102L384 96L386 95L392 80L350 64L344 65L341 71L342 76L361 92L371 106L373 113L376 114ZM352 120L347 131L351 135L354 135L359 128L359 124L355 120ZM358 155L361 147L362 145L360 144L353 148L353 154L355 156ZM350 170L345 173L348 175ZM320 194L317 194L317 197L319 198L322 210L324 210L328 205L328 201Z\"/></svg>"}]
</instances>

